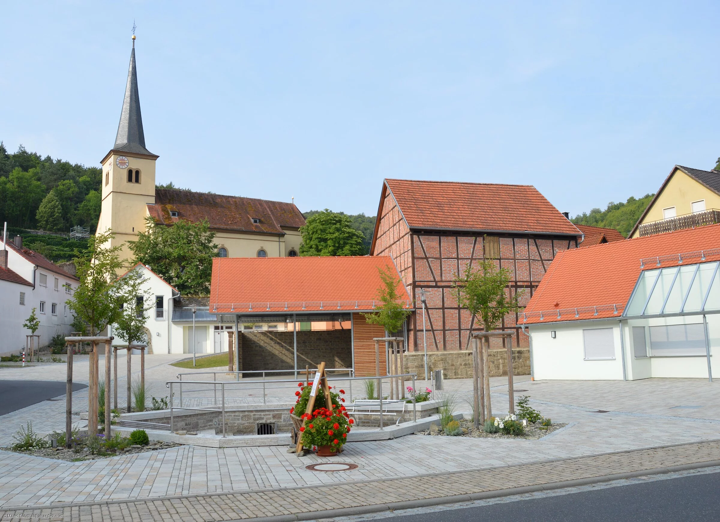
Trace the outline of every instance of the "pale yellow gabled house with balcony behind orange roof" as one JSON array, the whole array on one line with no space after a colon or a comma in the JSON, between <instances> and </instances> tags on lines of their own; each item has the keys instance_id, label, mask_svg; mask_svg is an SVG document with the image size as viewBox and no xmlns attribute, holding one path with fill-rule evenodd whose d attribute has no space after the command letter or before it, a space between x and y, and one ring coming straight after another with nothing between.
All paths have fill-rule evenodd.
<instances>
[{"instance_id":1,"label":"pale yellow gabled house with balcony behind orange roof","mask_svg":"<svg viewBox=\"0 0 720 522\"><path fill-rule=\"evenodd\" d=\"M675 165L631 238L720 222L720 171Z\"/></svg>"}]
</instances>

